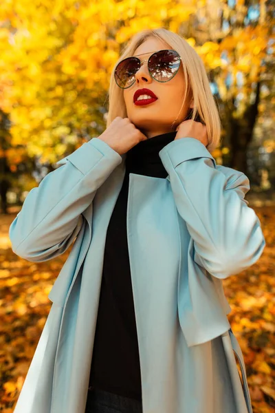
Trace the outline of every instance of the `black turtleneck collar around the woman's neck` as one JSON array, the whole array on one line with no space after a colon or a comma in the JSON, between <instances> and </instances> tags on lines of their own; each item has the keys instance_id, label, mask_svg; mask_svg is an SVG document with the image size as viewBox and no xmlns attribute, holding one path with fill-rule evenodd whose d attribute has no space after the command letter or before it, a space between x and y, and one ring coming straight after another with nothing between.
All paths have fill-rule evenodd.
<instances>
[{"instance_id":1,"label":"black turtleneck collar around the woman's neck","mask_svg":"<svg viewBox=\"0 0 275 413\"><path fill-rule=\"evenodd\" d=\"M168 143L175 139L177 132L167 132L142 140L126 153L126 174L130 172L140 175L166 178L167 171L159 158L161 151Z\"/></svg>"}]
</instances>

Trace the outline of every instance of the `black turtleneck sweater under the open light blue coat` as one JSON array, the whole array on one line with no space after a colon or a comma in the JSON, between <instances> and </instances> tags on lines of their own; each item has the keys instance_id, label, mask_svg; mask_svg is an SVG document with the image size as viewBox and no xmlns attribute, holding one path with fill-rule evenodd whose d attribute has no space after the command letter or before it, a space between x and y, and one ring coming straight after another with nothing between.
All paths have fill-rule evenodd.
<instances>
[{"instance_id":1,"label":"black turtleneck sweater under the open light blue coat","mask_svg":"<svg viewBox=\"0 0 275 413\"><path fill-rule=\"evenodd\" d=\"M159 151L176 134L172 131L142 140L126 153L124 181L109 221L104 248L89 386L139 401L142 401L140 357L126 233L129 173L166 178L168 174ZM90 395L88 392L88 398Z\"/></svg>"}]
</instances>

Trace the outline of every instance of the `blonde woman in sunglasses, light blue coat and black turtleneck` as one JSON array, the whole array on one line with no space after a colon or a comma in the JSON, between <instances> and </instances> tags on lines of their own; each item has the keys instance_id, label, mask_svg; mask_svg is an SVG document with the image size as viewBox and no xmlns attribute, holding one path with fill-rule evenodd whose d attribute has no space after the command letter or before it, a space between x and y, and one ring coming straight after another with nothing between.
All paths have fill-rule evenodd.
<instances>
[{"instance_id":1,"label":"blonde woman in sunglasses, light blue coat and black turtleneck","mask_svg":"<svg viewBox=\"0 0 275 413\"><path fill-rule=\"evenodd\" d=\"M222 279L265 239L248 178L210 153L220 132L195 50L163 28L133 36L107 129L60 160L10 226L33 262L75 240L14 413L252 413Z\"/></svg>"}]
</instances>

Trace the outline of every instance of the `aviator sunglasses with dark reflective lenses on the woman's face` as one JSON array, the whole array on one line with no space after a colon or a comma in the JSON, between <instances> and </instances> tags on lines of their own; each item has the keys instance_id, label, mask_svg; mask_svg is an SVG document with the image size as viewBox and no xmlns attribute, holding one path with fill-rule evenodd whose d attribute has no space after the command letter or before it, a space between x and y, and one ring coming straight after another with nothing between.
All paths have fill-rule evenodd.
<instances>
[{"instance_id":1,"label":"aviator sunglasses with dark reflective lenses on the woman's face","mask_svg":"<svg viewBox=\"0 0 275 413\"><path fill-rule=\"evenodd\" d=\"M159 50L151 54L148 61L148 72L157 82L170 81L179 70L181 56L175 50ZM127 89L135 83L135 74L142 65L138 57L132 56L122 60L115 67L115 83Z\"/></svg>"}]
</instances>

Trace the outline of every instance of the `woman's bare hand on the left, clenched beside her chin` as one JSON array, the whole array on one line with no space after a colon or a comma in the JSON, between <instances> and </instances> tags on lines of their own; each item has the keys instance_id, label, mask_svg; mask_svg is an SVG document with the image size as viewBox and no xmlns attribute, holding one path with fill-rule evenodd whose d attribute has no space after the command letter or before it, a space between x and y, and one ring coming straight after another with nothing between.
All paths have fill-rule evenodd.
<instances>
[{"instance_id":1,"label":"woman's bare hand on the left, clenched beside her chin","mask_svg":"<svg viewBox=\"0 0 275 413\"><path fill-rule=\"evenodd\" d=\"M131 123L129 118L117 116L110 123L109 127L98 136L98 139L103 140L109 147L122 155L141 140L146 140L147 137Z\"/></svg>"}]
</instances>

